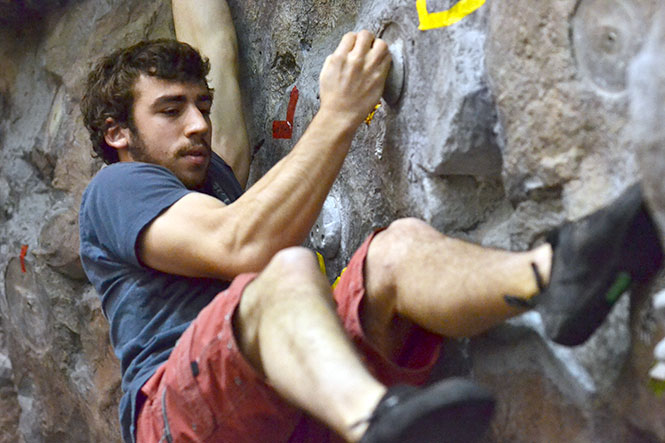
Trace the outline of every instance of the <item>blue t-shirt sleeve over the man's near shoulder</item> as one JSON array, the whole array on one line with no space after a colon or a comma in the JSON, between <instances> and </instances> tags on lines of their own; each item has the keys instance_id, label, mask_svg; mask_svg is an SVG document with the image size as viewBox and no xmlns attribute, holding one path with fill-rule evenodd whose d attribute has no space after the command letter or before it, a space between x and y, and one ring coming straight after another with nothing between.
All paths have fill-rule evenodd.
<instances>
[{"instance_id":1,"label":"blue t-shirt sleeve over the man's near shoulder","mask_svg":"<svg viewBox=\"0 0 665 443\"><path fill-rule=\"evenodd\" d=\"M83 195L81 247L90 241L114 259L140 266L136 254L139 235L189 192L161 166L131 162L101 170Z\"/></svg>"}]
</instances>

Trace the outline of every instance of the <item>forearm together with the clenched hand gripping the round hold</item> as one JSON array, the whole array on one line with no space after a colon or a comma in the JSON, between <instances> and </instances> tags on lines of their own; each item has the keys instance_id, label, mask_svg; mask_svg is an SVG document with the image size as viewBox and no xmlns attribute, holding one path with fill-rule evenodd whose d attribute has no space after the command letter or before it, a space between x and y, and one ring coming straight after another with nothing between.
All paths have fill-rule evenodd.
<instances>
[{"instance_id":1,"label":"forearm together with the clenched hand gripping the round hold","mask_svg":"<svg viewBox=\"0 0 665 443\"><path fill-rule=\"evenodd\" d=\"M247 233L265 232L258 243L271 245L270 256L305 239L356 129L379 101L389 66L387 45L366 31L345 35L326 58L319 78L319 112L291 153L245 195L258 202L259 215Z\"/></svg>"}]
</instances>

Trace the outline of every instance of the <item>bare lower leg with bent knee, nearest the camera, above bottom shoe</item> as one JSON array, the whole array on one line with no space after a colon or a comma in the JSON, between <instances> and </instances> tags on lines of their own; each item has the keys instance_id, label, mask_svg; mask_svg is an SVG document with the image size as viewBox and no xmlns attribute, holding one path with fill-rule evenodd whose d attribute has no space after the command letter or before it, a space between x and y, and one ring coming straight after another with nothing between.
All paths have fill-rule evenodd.
<instances>
[{"instance_id":1,"label":"bare lower leg with bent knee, nearest the camera, above bottom shoe","mask_svg":"<svg viewBox=\"0 0 665 443\"><path fill-rule=\"evenodd\" d=\"M367 372L343 330L314 255L279 252L247 286L234 329L241 350L287 401L349 441L386 388Z\"/></svg>"}]
</instances>

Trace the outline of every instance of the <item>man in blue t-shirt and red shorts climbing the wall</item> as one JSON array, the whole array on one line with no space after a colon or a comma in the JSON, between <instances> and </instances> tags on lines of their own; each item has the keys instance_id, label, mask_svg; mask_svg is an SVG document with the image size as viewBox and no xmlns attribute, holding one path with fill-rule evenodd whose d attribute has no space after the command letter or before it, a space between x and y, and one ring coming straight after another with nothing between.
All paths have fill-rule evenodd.
<instances>
[{"instance_id":1,"label":"man in blue t-shirt and red shorts climbing the wall","mask_svg":"<svg viewBox=\"0 0 665 443\"><path fill-rule=\"evenodd\" d=\"M534 300L582 300L598 269L607 271L587 298L603 297L623 256L589 254L598 235L599 244L626 237L635 213L591 216L626 219L616 232L567 225L553 234L554 252L486 249L398 220L369 236L333 294L298 245L379 101L387 45L366 31L344 36L321 71L307 131L243 193L248 139L228 6L173 0L173 13L177 37L209 65L187 44L141 42L103 58L82 100L93 148L110 164L83 197L81 257L122 365L123 438L481 435L494 404L486 389L462 379L408 385L427 380L443 337L481 333ZM639 193L628 198L639 206ZM573 305L568 317L585 315Z\"/></svg>"}]
</instances>

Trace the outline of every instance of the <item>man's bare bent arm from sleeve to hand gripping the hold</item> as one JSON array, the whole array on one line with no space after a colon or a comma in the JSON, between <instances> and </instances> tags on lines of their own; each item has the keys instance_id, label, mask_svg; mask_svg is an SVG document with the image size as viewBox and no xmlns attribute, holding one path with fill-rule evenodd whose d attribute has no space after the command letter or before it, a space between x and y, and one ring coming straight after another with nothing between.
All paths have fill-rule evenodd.
<instances>
[{"instance_id":1,"label":"man's bare bent arm from sleeve to hand gripping the hold","mask_svg":"<svg viewBox=\"0 0 665 443\"><path fill-rule=\"evenodd\" d=\"M321 108L291 152L229 206L198 193L183 197L143 234L143 262L164 272L231 279L301 244L356 129L381 97L389 66L382 40L367 31L344 36L321 71Z\"/></svg>"}]
</instances>

